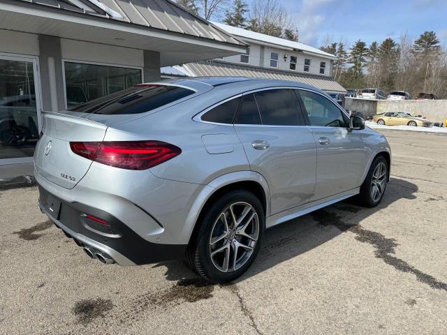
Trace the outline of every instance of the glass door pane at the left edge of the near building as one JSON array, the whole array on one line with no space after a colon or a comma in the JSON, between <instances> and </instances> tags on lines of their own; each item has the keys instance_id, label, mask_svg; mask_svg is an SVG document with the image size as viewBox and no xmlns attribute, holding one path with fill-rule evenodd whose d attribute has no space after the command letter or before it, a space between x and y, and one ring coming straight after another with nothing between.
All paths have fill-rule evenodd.
<instances>
[{"instance_id":1,"label":"glass door pane at the left edge of the near building","mask_svg":"<svg viewBox=\"0 0 447 335\"><path fill-rule=\"evenodd\" d=\"M0 59L0 159L33 156L37 106L33 62Z\"/></svg>"}]
</instances>

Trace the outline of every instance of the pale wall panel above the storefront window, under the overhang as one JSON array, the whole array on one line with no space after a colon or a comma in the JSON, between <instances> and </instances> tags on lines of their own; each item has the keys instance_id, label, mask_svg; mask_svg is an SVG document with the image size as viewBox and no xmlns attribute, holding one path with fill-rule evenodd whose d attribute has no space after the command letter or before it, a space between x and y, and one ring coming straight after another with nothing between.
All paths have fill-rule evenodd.
<instances>
[{"instance_id":1,"label":"pale wall panel above the storefront window, under the overhang","mask_svg":"<svg viewBox=\"0 0 447 335\"><path fill-rule=\"evenodd\" d=\"M143 51L61 38L63 59L91 61L122 66L144 66Z\"/></svg>"}]
</instances>

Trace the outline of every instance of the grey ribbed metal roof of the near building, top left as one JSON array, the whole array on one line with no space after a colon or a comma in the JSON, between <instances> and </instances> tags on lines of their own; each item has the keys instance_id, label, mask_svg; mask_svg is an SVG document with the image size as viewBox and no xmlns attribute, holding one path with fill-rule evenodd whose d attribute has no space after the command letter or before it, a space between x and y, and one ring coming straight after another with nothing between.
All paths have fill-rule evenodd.
<instances>
[{"instance_id":1,"label":"grey ribbed metal roof of the near building, top left","mask_svg":"<svg viewBox=\"0 0 447 335\"><path fill-rule=\"evenodd\" d=\"M162 31L170 31L223 43L245 46L223 29L190 13L170 0L16 0L31 6L45 6L52 10L64 10L89 15L94 19L110 19L117 22Z\"/></svg>"}]
</instances>

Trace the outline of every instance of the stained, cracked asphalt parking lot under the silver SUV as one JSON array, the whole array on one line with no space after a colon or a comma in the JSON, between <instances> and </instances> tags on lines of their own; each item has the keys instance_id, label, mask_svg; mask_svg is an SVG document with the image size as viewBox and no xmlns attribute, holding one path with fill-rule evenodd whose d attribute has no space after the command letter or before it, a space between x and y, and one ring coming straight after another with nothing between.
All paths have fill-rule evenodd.
<instances>
[{"instance_id":1,"label":"stained, cracked asphalt parking lot under the silver SUV","mask_svg":"<svg viewBox=\"0 0 447 335\"><path fill-rule=\"evenodd\" d=\"M182 262L102 265L41 214L37 188L0 191L0 334L447 334L447 135L382 133L379 207L268 230L226 286Z\"/></svg>"}]
</instances>

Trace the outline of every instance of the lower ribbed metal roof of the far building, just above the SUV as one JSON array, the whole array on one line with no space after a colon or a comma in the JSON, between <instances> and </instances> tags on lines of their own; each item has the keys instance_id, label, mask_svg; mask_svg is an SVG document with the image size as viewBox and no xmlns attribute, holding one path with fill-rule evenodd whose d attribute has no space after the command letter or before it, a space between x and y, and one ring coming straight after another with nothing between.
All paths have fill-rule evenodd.
<instances>
[{"instance_id":1,"label":"lower ribbed metal roof of the far building, just above the SUV","mask_svg":"<svg viewBox=\"0 0 447 335\"><path fill-rule=\"evenodd\" d=\"M291 73L281 70L270 70L269 68L256 68L254 66L243 66L221 61L200 61L197 63L184 64L182 66L187 73L193 73L196 77L255 77L277 80L290 80L292 82L303 82L323 91L346 92L346 89L336 82L332 77L322 75L307 75L303 73Z\"/></svg>"}]
</instances>

